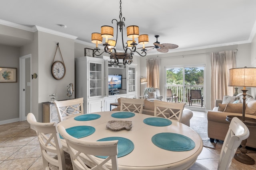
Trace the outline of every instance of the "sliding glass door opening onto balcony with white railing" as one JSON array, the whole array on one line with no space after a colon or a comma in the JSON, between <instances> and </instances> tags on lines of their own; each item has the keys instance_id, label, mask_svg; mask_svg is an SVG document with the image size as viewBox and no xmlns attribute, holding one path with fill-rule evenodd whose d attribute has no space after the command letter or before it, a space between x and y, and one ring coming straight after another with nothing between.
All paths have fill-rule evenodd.
<instances>
[{"instance_id":1,"label":"sliding glass door opening onto balcony with white railing","mask_svg":"<svg viewBox=\"0 0 256 170\"><path fill-rule=\"evenodd\" d=\"M204 107L204 68L205 66L166 67L166 101L176 100L185 102L188 106ZM171 97L170 91L173 95ZM194 92L198 93L197 96Z\"/></svg>"}]
</instances>

